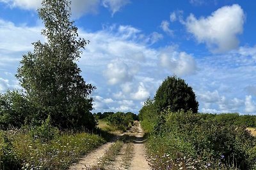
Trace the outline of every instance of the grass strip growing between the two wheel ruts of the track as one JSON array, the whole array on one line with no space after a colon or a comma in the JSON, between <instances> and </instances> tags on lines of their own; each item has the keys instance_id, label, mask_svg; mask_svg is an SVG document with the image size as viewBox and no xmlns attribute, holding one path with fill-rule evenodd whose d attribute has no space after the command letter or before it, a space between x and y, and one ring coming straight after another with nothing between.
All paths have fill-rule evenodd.
<instances>
[{"instance_id":1,"label":"grass strip growing between the two wheel ruts of the track","mask_svg":"<svg viewBox=\"0 0 256 170\"><path fill-rule=\"evenodd\" d=\"M93 166L91 169L105 169L104 166L106 164L109 164L109 162L112 162L116 159L118 152L120 152L120 149L124 145L124 142L122 141L116 141L113 145L111 145L105 155L100 160L99 164L97 166Z\"/></svg>"}]
</instances>

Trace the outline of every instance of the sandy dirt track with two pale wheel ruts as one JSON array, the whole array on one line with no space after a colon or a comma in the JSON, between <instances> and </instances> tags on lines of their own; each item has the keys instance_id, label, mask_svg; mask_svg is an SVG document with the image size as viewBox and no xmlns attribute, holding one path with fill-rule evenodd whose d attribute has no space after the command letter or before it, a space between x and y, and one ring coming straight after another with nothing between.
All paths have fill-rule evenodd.
<instances>
[{"instance_id":1,"label":"sandy dirt track with two pale wheel ruts","mask_svg":"<svg viewBox=\"0 0 256 170\"><path fill-rule=\"evenodd\" d=\"M136 122L131 131L124 132L120 136L126 136L127 141L122 146L120 152L116 156L113 162L110 162L104 169L119 170L148 170L150 166L145 157L145 146L143 144L144 132L141 129L140 122ZM119 138L118 136L117 138ZM113 142L115 140L113 139ZM90 167L96 166L100 159L104 156L108 148L113 142L106 143L100 146L93 152L89 153L77 164L73 164L70 169L90 169ZM129 143L129 144L128 144ZM128 146L129 145L129 149Z\"/></svg>"}]
</instances>

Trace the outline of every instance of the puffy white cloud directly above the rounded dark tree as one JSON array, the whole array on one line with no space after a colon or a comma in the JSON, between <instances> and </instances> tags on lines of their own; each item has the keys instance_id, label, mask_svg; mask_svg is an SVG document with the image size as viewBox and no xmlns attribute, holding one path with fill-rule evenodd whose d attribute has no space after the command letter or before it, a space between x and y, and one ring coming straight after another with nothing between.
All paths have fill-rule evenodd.
<instances>
[{"instance_id":1,"label":"puffy white cloud directly above the rounded dark tree","mask_svg":"<svg viewBox=\"0 0 256 170\"><path fill-rule=\"evenodd\" d=\"M161 66L170 69L177 76L193 74L196 71L195 59L186 52L163 50L159 59Z\"/></svg>"}]
</instances>

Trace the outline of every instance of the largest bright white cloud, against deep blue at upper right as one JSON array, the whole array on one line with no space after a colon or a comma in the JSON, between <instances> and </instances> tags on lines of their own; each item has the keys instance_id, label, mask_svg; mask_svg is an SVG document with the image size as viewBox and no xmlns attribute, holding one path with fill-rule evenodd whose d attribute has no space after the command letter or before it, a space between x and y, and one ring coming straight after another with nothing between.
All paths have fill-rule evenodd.
<instances>
[{"instance_id":1,"label":"largest bright white cloud, against deep blue at upper right","mask_svg":"<svg viewBox=\"0 0 256 170\"><path fill-rule=\"evenodd\" d=\"M184 24L198 43L205 43L211 52L222 53L237 48L237 35L243 32L244 20L241 6L233 4L223 6L206 18L196 19L191 14Z\"/></svg>"}]
</instances>

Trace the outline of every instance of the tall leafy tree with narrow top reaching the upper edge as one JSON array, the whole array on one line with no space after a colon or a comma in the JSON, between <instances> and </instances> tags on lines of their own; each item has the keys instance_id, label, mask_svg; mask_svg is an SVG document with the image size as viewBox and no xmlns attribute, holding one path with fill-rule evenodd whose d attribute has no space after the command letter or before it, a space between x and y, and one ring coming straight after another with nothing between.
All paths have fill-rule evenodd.
<instances>
[{"instance_id":1,"label":"tall leafy tree with narrow top reaching the upper edge","mask_svg":"<svg viewBox=\"0 0 256 170\"><path fill-rule=\"evenodd\" d=\"M45 24L46 43L33 43L34 51L23 55L17 71L29 101L38 108L40 119L51 116L61 127L95 126L90 94L95 87L84 81L76 61L89 41L81 39L70 21L70 2L44 0L38 10ZM37 116L38 116L37 115Z\"/></svg>"}]
</instances>

